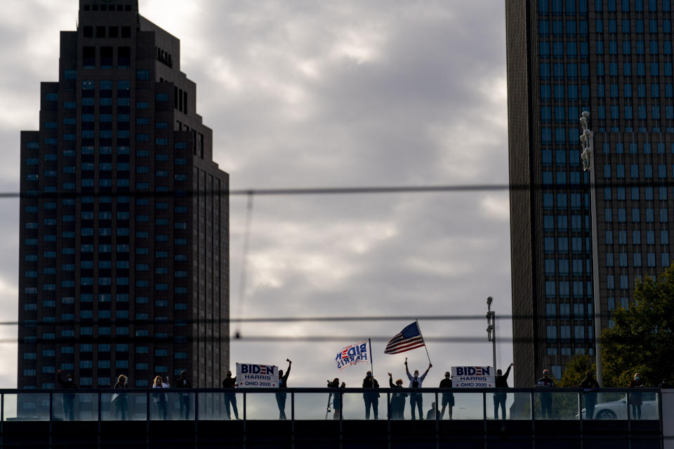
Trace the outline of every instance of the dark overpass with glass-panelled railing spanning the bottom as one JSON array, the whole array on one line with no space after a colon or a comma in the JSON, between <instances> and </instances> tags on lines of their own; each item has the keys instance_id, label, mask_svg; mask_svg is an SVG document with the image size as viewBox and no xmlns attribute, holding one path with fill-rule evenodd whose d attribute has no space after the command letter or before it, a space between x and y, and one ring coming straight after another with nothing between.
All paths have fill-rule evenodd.
<instances>
[{"instance_id":1,"label":"dark overpass with glass-panelled railing spanning the bottom","mask_svg":"<svg viewBox=\"0 0 674 449\"><path fill-rule=\"evenodd\" d=\"M379 419L371 411L366 420L363 395L372 390L307 388L282 391L286 420L281 420L281 391L0 390L0 449L668 449L672 441L664 436L674 430L674 391L659 389L586 394L579 389L424 388L423 417L430 417L424 420L411 420L409 397L404 398L402 419L393 419L391 399L401 391L409 394L408 389L378 389ZM443 395L450 393L451 420L449 410L444 416L431 411L432 403L442 404ZM499 420L494 419L498 393L506 398L506 416ZM546 394L552 402L550 416L541 408ZM641 416L630 410L629 394L642 402ZM592 395L597 403L590 415L586 399L591 402ZM239 420L225 407L232 398Z\"/></svg>"}]
</instances>

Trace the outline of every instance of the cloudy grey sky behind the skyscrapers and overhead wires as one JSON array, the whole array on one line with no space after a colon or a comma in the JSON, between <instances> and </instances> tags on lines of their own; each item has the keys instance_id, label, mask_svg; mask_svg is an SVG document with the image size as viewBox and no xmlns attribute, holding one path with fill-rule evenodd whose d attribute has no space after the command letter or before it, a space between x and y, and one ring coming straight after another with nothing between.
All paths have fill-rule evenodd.
<instances>
[{"instance_id":1,"label":"cloudy grey sky behind the skyscrapers and overhead wires","mask_svg":"<svg viewBox=\"0 0 674 449\"><path fill-rule=\"evenodd\" d=\"M430 186L508 182L505 13L498 0L140 0L180 38L232 189ZM39 83L58 79L58 36L77 0L4 0L0 15L0 189L18 191L19 133L37 129ZM258 196L239 304L246 198L232 197L232 316L510 314L507 192ZM0 201L0 320L15 321L18 201ZM392 337L408 321L246 324L231 363L293 360L290 385L323 386L336 353ZM429 379L491 365L485 319L422 321ZM234 330L236 326L232 326ZM498 321L509 338L510 322ZM246 342L254 335L305 342ZM344 336L312 342L313 335ZM0 327L15 340L16 328ZM375 374L428 364L423 349L387 356ZM499 365L510 343L498 346ZM15 387L15 342L0 344L0 387ZM357 386L364 368L341 374ZM430 385L429 385L430 386Z\"/></svg>"}]
</instances>

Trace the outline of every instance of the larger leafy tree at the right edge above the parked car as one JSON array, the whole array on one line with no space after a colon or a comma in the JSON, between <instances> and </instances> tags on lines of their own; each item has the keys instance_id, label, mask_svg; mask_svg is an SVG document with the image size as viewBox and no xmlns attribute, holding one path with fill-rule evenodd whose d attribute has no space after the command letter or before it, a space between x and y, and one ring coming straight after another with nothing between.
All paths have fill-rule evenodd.
<instances>
[{"instance_id":1,"label":"larger leafy tree at the right edge above the parked car","mask_svg":"<svg viewBox=\"0 0 674 449\"><path fill-rule=\"evenodd\" d=\"M674 374L674 264L656 282L636 281L635 304L613 313L613 328L602 332L605 387L626 387L635 373L658 385Z\"/></svg>"}]
</instances>

